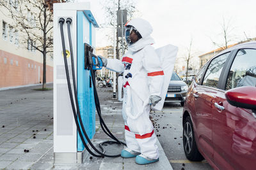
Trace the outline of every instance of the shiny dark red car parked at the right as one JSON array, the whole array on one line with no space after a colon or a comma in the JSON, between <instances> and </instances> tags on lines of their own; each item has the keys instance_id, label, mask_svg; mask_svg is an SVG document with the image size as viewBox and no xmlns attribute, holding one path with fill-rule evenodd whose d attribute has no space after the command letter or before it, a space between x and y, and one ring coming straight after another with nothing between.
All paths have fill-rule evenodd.
<instances>
[{"instance_id":1,"label":"shiny dark red car parked at the right","mask_svg":"<svg viewBox=\"0 0 256 170\"><path fill-rule=\"evenodd\" d=\"M192 81L183 110L189 160L214 169L255 169L256 41L212 57Z\"/></svg>"}]
</instances>

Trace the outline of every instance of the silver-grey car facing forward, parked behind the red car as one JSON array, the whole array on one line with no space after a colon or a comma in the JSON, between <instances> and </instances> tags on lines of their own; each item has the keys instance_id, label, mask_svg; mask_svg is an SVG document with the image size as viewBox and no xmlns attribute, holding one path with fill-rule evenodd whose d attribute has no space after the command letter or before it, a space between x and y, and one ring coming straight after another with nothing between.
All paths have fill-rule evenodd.
<instances>
[{"instance_id":1,"label":"silver-grey car facing forward, parked behind the red car","mask_svg":"<svg viewBox=\"0 0 256 170\"><path fill-rule=\"evenodd\" d=\"M186 94L188 92L188 85L180 79L180 77L173 71L172 78L170 80L168 91L166 94L165 102L180 103L184 106Z\"/></svg>"}]
</instances>

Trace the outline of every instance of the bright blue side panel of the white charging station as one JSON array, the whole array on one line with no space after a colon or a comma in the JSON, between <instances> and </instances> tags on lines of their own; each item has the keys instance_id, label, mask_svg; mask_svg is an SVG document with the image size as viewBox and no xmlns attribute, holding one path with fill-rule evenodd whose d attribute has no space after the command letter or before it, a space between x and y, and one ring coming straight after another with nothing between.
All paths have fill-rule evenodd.
<instances>
[{"instance_id":1,"label":"bright blue side panel of the white charging station","mask_svg":"<svg viewBox=\"0 0 256 170\"><path fill-rule=\"evenodd\" d=\"M84 129L90 139L95 134L95 102L92 75L90 70L84 69L84 43L92 46L92 27L92 21L88 20L86 12L77 11L77 97ZM77 134L77 152L83 150L84 145Z\"/></svg>"}]
</instances>

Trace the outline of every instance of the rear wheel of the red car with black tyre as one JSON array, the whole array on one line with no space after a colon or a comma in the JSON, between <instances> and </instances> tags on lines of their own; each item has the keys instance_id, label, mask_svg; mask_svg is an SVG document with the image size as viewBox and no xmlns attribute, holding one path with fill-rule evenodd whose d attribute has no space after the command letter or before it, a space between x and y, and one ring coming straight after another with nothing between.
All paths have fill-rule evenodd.
<instances>
[{"instance_id":1,"label":"rear wheel of the red car with black tyre","mask_svg":"<svg viewBox=\"0 0 256 170\"><path fill-rule=\"evenodd\" d=\"M196 146L195 133L190 117L186 117L183 126L183 148L188 160L204 160L204 157L198 151L198 148Z\"/></svg>"}]
</instances>

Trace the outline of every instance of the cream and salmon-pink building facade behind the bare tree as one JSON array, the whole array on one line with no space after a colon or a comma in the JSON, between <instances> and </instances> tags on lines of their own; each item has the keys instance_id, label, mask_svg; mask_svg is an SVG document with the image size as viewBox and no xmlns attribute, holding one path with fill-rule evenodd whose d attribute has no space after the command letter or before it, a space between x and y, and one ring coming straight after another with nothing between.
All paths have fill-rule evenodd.
<instances>
[{"instance_id":1,"label":"cream and salmon-pink building facade behind the bare tree","mask_svg":"<svg viewBox=\"0 0 256 170\"><path fill-rule=\"evenodd\" d=\"M17 1L6 1L6 5L15 8ZM15 27L10 12L0 6L0 88L17 87L42 83L43 55L33 48L33 42L24 43L24 34ZM35 24L36 14L27 7L26 17ZM53 81L53 60L51 55L46 60L46 81Z\"/></svg>"}]
</instances>

